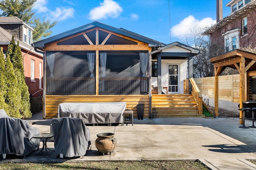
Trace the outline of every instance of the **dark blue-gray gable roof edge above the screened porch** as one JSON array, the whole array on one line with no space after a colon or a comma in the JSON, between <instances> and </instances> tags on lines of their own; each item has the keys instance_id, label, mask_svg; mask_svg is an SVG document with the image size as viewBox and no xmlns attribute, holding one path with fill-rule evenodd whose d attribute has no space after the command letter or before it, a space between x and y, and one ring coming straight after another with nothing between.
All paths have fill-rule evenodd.
<instances>
[{"instance_id":1,"label":"dark blue-gray gable roof edge above the screened porch","mask_svg":"<svg viewBox=\"0 0 256 170\"><path fill-rule=\"evenodd\" d=\"M32 46L34 46L34 47L45 47L45 45L48 44L48 43L52 43L54 41L58 41L60 39L66 38L66 37L70 37L72 35L76 35L78 33L84 32L86 30L89 30L89 29L92 29L92 28L95 28L95 27L100 27L102 29L106 29L108 31L111 31L111 32L114 32L114 33L117 33L117 34L124 35L126 37L130 37L132 39L136 39L138 41L142 41L144 43L148 43L149 47L159 47L159 46L162 46L162 43L159 42L159 41L150 39L148 37L144 37L142 35L136 34L136 33L132 32L132 31L128 31L128 30L123 29L123 28L115 28L115 27L112 27L112 26L100 23L98 21L94 21L94 22L89 23L87 25L83 25L81 27L72 29L70 31L66 31L64 33L60 33L58 35L54 35L52 37L49 37L49 38L43 39L41 41L35 42L35 43L32 44Z\"/></svg>"}]
</instances>

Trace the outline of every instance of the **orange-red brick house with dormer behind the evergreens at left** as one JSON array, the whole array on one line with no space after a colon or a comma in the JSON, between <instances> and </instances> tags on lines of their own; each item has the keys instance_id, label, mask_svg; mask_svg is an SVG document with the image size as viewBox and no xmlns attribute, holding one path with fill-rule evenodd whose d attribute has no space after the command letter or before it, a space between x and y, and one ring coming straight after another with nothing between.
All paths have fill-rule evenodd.
<instances>
[{"instance_id":1,"label":"orange-red brick house with dormer behind the evergreens at left","mask_svg":"<svg viewBox=\"0 0 256 170\"><path fill-rule=\"evenodd\" d=\"M6 53L12 35L16 42L19 41L26 84L29 93L36 97L43 94L43 55L37 53L30 45L33 31L32 27L17 17L0 17L0 47L3 47L4 53Z\"/></svg>"}]
</instances>

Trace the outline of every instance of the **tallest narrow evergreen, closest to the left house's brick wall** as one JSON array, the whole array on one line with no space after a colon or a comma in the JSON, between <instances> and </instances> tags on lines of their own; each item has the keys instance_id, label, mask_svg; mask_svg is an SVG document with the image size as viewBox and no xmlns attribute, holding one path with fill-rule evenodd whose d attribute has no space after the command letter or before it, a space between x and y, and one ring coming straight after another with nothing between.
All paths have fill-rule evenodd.
<instances>
[{"instance_id":1,"label":"tallest narrow evergreen, closest to the left house's brick wall","mask_svg":"<svg viewBox=\"0 0 256 170\"><path fill-rule=\"evenodd\" d=\"M21 91L20 114L22 115L22 118L31 117L32 113L30 111L30 102L29 102L30 99L29 99L28 86L25 82L25 76L24 76L23 57L22 57L19 41L16 44L14 40L14 36L12 36L12 40L8 46L7 55L10 57L10 61L13 65L14 72L18 80L18 87L20 88L20 91Z\"/></svg>"}]
</instances>

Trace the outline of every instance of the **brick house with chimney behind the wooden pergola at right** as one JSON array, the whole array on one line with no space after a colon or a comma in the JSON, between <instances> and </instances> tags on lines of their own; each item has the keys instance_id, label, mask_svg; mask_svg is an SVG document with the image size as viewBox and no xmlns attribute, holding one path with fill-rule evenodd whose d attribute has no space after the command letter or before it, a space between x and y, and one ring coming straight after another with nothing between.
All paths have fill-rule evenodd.
<instances>
[{"instance_id":1,"label":"brick house with chimney behind the wooden pergola at right","mask_svg":"<svg viewBox=\"0 0 256 170\"><path fill-rule=\"evenodd\" d=\"M256 47L256 0L231 0L226 6L231 14L219 18L222 11L217 6L217 23L204 32L210 35L213 56L249 45Z\"/></svg>"}]
</instances>

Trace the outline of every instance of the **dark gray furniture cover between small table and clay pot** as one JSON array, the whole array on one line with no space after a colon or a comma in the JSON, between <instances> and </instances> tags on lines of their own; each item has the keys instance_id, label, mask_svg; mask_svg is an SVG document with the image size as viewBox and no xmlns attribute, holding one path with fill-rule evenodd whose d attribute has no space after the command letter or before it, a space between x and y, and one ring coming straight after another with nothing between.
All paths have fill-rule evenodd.
<instances>
[{"instance_id":1,"label":"dark gray furniture cover between small table and clay pot","mask_svg":"<svg viewBox=\"0 0 256 170\"><path fill-rule=\"evenodd\" d=\"M80 118L52 119L54 147L57 154L66 157L84 156L90 145L90 129Z\"/></svg>"}]
</instances>

